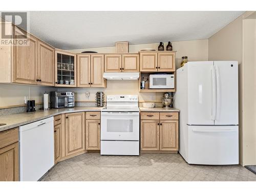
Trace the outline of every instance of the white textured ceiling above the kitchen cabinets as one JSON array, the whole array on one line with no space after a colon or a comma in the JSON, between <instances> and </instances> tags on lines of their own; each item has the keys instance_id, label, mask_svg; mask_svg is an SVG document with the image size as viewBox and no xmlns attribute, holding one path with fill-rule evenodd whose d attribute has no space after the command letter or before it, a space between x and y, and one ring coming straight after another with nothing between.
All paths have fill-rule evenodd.
<instances>
[{"instance_id":1,"label":"white textured ceiling above the kitchen cabinets","mask_svg":"<svg viewBox=\"0 0 256 192\"><path fill-rule=\"evenodd\" d=\"M59 49L209 38L243 11L31 11L30 32Z\"/></svg>"}]
</instances>

